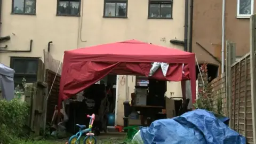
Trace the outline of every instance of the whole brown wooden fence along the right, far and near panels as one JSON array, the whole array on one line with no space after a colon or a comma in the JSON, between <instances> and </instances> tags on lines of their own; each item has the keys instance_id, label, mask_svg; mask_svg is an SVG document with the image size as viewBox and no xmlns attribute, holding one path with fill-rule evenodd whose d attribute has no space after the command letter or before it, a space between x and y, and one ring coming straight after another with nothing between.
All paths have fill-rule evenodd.
<instances>
[{"instance_id":1,"label":"whole brown wooden fence along the right, far and near panels","mask_svg":"<svg viewBox=\"0 0 256 144\"><path fill-rule=\"evenodd\" d=\"M208 86L214 103L221 97L222 114L230 118L231 129L253 143L250 53L235 62L234 51L235 44L227 41L226 71Z\"/></svg>"}]
</instances>

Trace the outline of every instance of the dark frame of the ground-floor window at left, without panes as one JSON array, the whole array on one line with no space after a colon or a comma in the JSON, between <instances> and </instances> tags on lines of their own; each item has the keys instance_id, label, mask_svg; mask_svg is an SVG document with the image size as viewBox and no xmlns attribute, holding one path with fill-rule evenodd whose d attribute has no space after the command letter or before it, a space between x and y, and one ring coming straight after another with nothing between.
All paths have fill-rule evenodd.
<instances>
[{"instance_id":1,"label":"dark frame of the ground-floor window at left, without panes","mask_svg":"<svg viewBox=\"0 0 256 144\"><path fill-rule=\"evenodd\" d=\"M35 77L35 79L37 80L37 71L38 71L38 65L39 65L39 58L38 57L11 57L10 58L10 68L14 69L14 62L15 60L26 60L26 61L29 61L29 60L37 60L37 70L36 70L36 73L35 74L26 74L26 73L14 73L14 83L15 84L20 84L19 82L15 82L15 77ZM15 69L14 69L15 70Z\"/></svg>"}]
</instances>

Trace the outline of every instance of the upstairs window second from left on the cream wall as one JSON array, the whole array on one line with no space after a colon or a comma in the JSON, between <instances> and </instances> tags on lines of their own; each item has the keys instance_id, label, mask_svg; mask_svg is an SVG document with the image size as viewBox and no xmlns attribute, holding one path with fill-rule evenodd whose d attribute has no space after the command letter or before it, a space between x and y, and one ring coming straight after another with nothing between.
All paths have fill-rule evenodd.
<instances>
[{"instance_id":1,"label":"upstairs window second from left on the cream wall","mask_svg":"<svg viewBox=\"0 0 256 144\"><path fill-rule=\"evenodd\" d=\"M81 0L58 0L57 15L79 16Z\"/></svg>"}]
</instances>

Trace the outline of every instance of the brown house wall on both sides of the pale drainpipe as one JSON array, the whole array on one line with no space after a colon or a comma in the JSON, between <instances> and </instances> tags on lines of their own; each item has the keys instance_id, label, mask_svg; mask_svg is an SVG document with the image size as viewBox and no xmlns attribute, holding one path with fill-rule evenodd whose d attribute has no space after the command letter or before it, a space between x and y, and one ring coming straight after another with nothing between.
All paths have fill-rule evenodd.
<instances>
[{"instance_id":1,"label":"brown house wall on both sides of the pale drainpipe","mask_svg":"<svg viewBox=\"0 0 256 144\"><path fill-rule=\"evenodd\" d=\"M254 7L255 5L256 3L254 3ZM206 60L208 63L219 65L196 43L204 46L207 51L221 60L221 14L222 0L208 0L207 3L194 0L192 51L196 53L199 63ZM238 19L236 15L237 0L226 0L225 41L235 42L236 55L240 56L250 50L250 19Z\"/></svg>"}]
</instances>

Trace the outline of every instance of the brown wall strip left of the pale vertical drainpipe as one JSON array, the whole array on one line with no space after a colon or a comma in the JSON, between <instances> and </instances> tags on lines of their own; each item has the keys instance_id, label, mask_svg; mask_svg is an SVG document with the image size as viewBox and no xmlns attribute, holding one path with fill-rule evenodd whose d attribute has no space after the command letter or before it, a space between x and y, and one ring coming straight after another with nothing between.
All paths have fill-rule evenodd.
<instances>
[{"instance_id":1,"label":"brown wall strip left of the pale vertical drainpipe","mask_svg":"<svg viewBox=\"0 0 256 144\"><path fill-rule=\"evenodd\" d=\"M199 62L207 60L218 65L218 62L203 51L196 42L215 54L215 45L221 44L221 6L221 0L209 0L207 3L194 0L192 52L196 53Z\"/></svg>"}]
</instances>

